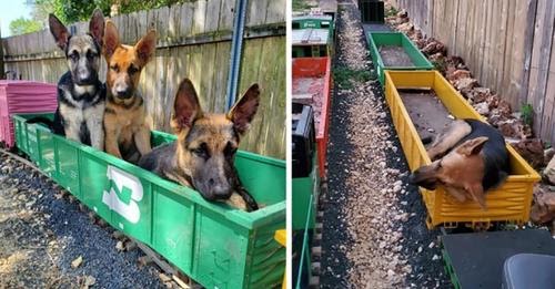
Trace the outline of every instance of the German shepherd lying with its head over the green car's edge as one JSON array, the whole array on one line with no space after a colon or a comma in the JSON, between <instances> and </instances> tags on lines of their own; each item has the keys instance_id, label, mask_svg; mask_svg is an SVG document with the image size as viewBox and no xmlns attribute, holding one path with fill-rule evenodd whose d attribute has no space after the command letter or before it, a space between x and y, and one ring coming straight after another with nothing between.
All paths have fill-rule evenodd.
<instances>
[{"instance_id":1,"label":"German shepherd lying with its head over the green car's edge","mask_svg":"<svg viewBox=\"0 0 555 289\"><path fill-rule=\"evenodd\" d=\"M192 187L208 200L256 210L256 202L241 185L234 159L259 103L259 85L253 84L229 113L204 113L192 82L184 79L175 95L171 120L178 140L154 148L141 158L139 166Z\"/></svg>"}]
</instances>

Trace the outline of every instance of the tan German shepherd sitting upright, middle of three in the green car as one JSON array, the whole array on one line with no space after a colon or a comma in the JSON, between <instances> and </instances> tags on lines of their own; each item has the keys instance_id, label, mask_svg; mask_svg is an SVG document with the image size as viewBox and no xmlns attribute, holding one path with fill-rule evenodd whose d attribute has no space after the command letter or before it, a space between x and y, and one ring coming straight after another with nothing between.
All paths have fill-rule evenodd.
<instances>
[{"instance_id":1,"label":"tan German shepherd sitting upright, middle of three in the green car","mask_svg":"<svg viewBox=\"0 0 555 289\"><path fill-rule=\"evenodd\" d=\"M154 55L157 32L150 30L134 45L120 43L113 22L107 21L104 58L108 63L104 113L105 152L131 163L151 151L144 101L137 86L141 71Z\"/></svg>"}]
</instances>

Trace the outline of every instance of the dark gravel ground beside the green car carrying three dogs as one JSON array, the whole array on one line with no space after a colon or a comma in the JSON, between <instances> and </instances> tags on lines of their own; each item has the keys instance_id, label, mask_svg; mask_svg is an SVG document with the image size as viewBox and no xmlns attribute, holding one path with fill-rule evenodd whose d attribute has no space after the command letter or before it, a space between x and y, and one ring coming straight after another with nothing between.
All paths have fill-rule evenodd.
<instances>
[{"instance_id":1,"label":"dark gravel ground beside the green car carrying three dogs","mask_svg":"<svg viewBox=\"0 0 555 289\"><path fill-rule=\"evenodd\" d=\"M62 196L0 153L0 288L163 288L158 268L138 264L141 251L119 251L111 228Z\"/></svg>"}]
</instances>

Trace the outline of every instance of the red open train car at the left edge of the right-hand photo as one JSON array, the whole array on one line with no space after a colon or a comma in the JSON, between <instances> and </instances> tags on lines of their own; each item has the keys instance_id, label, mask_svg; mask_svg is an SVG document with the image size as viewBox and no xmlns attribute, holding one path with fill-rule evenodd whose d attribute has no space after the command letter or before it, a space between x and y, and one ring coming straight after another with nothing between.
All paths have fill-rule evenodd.
<instances>
[{"instance_id":1,"label":"red open train car at the left edge of the right-hand photo","mask_svg":"<svg viewBox=\"0 0 555 289\"><path fill-rule=\"evenodd\" d=\"M317 165L325 176L331 110L330 58L293 59L293 102L312 105L316 127Z\"/></svg>"}]
</instances>

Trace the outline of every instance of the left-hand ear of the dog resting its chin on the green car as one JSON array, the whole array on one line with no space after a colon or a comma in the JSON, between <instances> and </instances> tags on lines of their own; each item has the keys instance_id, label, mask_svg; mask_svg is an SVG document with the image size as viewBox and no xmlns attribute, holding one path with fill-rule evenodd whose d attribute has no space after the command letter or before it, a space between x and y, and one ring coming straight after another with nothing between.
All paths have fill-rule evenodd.
<instances>
[{"instance_id":1,"label":"left-hand ear of the dog resting its chin on the green car","mask_svg":"<svg viewBox=\"0 0 555 289\"><path fill-rule=\"evenodd\" d=\"M184 79L179 84L175 101L173 101L171 127L175 133L180 133L191 128L193 122L201 116L201 104L193 83L189 79Z\"/></svg>"}]
</instances>

